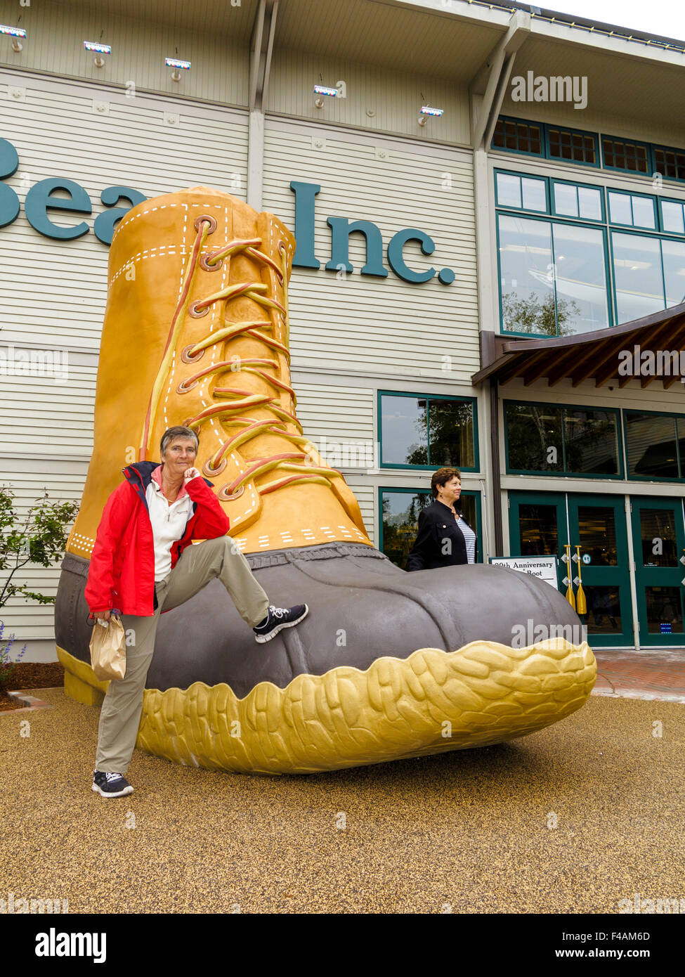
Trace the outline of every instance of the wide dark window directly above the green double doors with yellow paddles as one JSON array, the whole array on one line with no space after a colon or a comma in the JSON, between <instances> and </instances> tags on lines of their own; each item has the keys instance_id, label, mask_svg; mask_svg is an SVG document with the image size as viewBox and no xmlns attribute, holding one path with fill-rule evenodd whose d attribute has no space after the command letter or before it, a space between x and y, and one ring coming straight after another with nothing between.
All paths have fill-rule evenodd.
<instances>
[{"instance_id":1,"label":"wide dark window directly above the green double doors with yellow paddles","mask_svg":"<svg viewBox=\"0 0 685 977\"><path fill-rule=\"evenodd\" d=\"M504 402L506 470L621 477L618 411Z\"/></svg>"}]
</instances>

